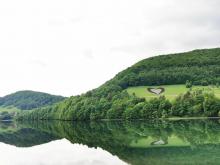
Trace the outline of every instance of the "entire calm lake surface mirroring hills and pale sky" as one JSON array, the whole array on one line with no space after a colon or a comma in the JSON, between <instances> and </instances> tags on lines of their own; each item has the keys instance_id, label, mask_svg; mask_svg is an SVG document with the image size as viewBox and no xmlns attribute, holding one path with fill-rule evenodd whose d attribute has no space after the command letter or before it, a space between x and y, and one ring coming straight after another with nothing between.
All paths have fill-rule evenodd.
<instances>
[{"instance_id":1,"label":"entire calm lake surface mirroring hills and pale sky","mask_svg":"<svg viewBox=\"0 0 220 165\"><path fill-rule=\"evenodd\" d=\"M216 165L219 120L0 123L1 165Z\"/></svg>"}]
</instances>

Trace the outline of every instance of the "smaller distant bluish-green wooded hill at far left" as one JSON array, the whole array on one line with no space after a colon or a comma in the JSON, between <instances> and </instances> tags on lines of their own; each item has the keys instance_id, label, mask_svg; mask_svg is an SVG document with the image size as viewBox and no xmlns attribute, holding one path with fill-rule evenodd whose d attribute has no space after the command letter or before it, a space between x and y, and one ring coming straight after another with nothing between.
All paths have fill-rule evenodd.
<instances>
[{"instance_id":1,"label":"smaller distant bluish-green wooded hill at far left","mask_svg":"<svg viewBox=\"0 0 220 165\"><path fill-rule=\"evenodd\" d=\"M19 91L0 98L0 106L14 106L21 110L31 110L63 101L64 97L42 92Z\"/></svg>"}]
</instances>

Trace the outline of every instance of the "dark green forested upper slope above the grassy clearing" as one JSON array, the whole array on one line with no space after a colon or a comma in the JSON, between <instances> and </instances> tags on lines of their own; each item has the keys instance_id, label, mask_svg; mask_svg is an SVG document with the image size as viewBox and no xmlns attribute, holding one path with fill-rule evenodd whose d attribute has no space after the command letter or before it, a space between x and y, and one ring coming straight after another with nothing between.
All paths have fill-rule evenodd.
<instances>
[{"instance_id":1,"label":"dark green forested upper slope above the grassy clearing","mask_svg":"<svg viewBox=\"0 0 220 165\"><path fill-rule=\"evenodd\" d=\"M119 73L111 83L122 88L141 85L220 83L220 48L151 57Z\"/></svg>"}]
</instances>

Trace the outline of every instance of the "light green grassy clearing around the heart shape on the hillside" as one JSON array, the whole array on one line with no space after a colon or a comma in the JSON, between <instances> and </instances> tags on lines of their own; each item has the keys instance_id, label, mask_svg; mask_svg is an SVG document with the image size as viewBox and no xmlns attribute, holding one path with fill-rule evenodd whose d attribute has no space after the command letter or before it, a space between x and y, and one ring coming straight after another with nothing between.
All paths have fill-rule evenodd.
<instances>
[{"instance_id":1,"label":"light green grassy clearing around the heart shape on the hillside","mask_svg":"<svg viewBox=\"0 0 220 165\"><path fill-rule=\"evenodd\" d=\"M178 95L187 92L189 89L186 88L185 85L162 85L162 86L138 86L138 87L131 87L128 88L127 91L130 95L135 93L138 97L144 97L147 100L158 97L158 95L150 93L147 89L148 88L158 88L163 87L165 88L165 92L161 95L164 95L169 100L174 100ZM193 86L192 90L195 89L203 89L205 91L214 92L214 94L220 98L220 88L215 86Z\"/></svg>"}]
</instances>

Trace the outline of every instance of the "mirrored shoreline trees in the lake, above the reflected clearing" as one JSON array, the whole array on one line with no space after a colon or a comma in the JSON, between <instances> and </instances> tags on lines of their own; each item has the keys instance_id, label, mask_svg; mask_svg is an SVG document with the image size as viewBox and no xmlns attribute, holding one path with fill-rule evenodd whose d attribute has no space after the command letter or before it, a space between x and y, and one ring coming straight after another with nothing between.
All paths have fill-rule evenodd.
<instances>
[{"instance_id":1,"label":"mirrored shoreline trees in the lake, above the reflected clearing","mask_svg":"<svg viewBox=\"0 0 220 165\"><path fill-rule=\"evenodd\" d=\"M16 134L19 131L26 131L27 133L32 131L32 134L33 130L36 132L41 131L57 138L66 138L73 143L82 143L92 147L98 147L102 143L111 146L129 146L132 141L148 137L167 142L171 136L176 136L194 147L208 143L220 143L220 124L218 120L128 122L42 121L20 123L18 124L19 129L15 127L16 124L1 124L0 128L1 130L8 129L8 132L12 134ZM12 128L14 131L12 131Z\"/></svg>"}]
</instances>

